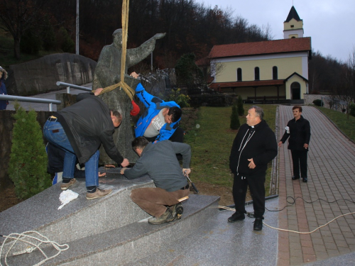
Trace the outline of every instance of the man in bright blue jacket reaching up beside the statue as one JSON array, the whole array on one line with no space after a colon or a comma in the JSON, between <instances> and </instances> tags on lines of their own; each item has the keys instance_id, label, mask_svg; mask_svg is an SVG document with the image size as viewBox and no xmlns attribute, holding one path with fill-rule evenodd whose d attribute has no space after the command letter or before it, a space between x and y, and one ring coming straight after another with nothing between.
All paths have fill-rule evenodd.
<instances>
[{"instance_id":1,"label":"man in bright blue jacket reaching up beside the statue","mask_svg":"<svg viewBox=\"0 0 355 266\"><path fill-rule=\"evenodd\" d=\"M131 76L137 78L138 74L133 72ZM180 106L175 101L163 101L149 94L141 83L136 87L136 95L147 108L136 123L136 137L144 136L153 143L162 140L182 143L184 133L178 127L182 114Z\"/></svg>"}]
</instances>

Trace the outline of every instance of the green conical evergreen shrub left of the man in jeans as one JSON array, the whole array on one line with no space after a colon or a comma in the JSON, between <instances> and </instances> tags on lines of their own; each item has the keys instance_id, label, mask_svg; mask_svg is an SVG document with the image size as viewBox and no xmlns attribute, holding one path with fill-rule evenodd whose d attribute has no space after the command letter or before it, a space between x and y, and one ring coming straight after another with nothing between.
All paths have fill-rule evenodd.
<instances>
[{"instance_id":1,"label":"green conical evergreen shrub left of the man in jeans","mask_svg":"<svg viewBox=\"0 0 355 266\"><path fill-rule=\"evenodd\" d=\"M26 112L18 103L15 109L9 177L15 184L16 196L28 199L50 187L48 159L37 113Z\"/></svg>"}]
</instances>

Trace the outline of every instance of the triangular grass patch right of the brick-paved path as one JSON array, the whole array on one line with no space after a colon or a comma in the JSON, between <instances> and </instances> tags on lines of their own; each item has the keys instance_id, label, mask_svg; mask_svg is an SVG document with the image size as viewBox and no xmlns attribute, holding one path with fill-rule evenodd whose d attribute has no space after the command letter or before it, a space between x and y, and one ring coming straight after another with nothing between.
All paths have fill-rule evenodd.
<instances>
[{"instance_id":1,"label":"triangular grass patch right of the brick-paved path","mask_svg":"<svg viewBox=\"0 0 355 266\"><path fill-rule=\"evenodd\" d=\"M345 135L355 142L355 117L346 113L315 106L332 120Z\"/></svg>"}]
</instances>

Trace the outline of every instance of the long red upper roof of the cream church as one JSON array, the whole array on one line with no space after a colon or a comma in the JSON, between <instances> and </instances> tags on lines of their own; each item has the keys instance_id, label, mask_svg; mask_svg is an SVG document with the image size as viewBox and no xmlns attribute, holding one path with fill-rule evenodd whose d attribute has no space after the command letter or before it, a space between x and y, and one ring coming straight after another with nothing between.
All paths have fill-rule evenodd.
<instances>
[{"instance_id":1,"label":"long red upper roof of the cream church","mask_svg":"<svg viewBox=\"0 0 355 266\"><path fill-rule=\"evenodd\" d=\"M267 55L283 52L309 51L311 57L311 38L290 38L283 40L265 40L255 43L234 43L229 45L214 45L209 58L238 57L248 55Z\"/></svg>"}]
</instances>

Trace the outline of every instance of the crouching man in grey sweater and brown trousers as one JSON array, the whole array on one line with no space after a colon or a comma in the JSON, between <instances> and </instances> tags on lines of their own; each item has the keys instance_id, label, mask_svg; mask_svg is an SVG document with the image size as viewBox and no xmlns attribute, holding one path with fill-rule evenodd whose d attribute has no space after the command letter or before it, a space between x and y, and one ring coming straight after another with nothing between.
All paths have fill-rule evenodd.
<instances>
[{"instance_id":1,"label":"crouching man in grey sweater and brown trousers","mask_svg":"<svg viewBox=\"0 0 355 266\"><path fill-rule=\"evenodd\" d=\"M121 174L128 179L148 174L156 187L132 189L132 201L154 216L148 220L148 223L168 223L175 218L180 218L183 209L179 199L190 193L184 175L191 172L190 145L173 143L170 140L153 144L146 138L139 137L132 141L132 148L140 158L132 168L122 168ZM176 158L177 153L182 155L182 169Z\"/></svg>"}]
</instances>

